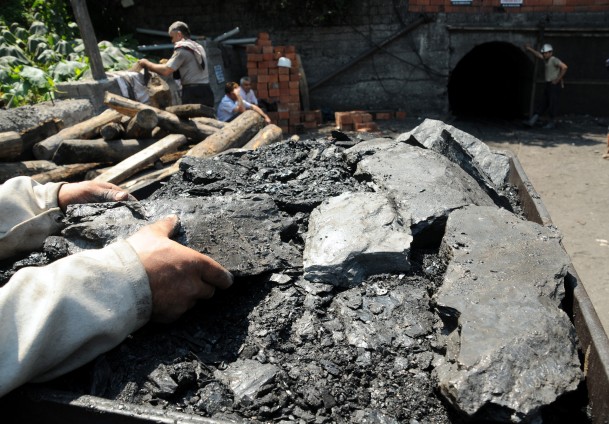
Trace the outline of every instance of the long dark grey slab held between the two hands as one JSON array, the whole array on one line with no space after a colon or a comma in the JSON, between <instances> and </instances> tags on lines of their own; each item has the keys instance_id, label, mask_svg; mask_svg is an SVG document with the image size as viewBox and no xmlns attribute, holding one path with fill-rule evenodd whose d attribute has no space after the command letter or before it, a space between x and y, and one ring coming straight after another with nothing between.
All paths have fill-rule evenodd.
<instances>
[{"instance_id":1,"label":"long dark grey slab held between the two hands","mask_svg":"<svg viewBox=\"0 0 609 424\"><path fill-rule=\"evenodd\" d=\"M63 235L69 253L101 248L169 214L180 218L179 242L236 276L301 266L300 252L280 237L290 221L268 195L78 205L68 211Z\"/></svg>"}]
</instances>

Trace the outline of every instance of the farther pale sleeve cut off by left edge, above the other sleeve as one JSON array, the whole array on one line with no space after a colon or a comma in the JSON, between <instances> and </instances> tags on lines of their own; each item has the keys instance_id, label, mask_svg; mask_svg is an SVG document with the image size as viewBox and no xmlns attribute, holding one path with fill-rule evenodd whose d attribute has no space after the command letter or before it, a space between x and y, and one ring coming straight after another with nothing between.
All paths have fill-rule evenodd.
<instances>
[{"instance_id":1,"label":"farther pale sleeve cut off by left edge, above the other sleeve","mask_svg":"<svg viewBox=\"0 0 609 424\"><path fill-rule=\"evenodd\" d=\"M29 177L0 185L0 259L42 247L62 227L57 204L62 183L39 184Z\"/></svg>"}]
</instances>

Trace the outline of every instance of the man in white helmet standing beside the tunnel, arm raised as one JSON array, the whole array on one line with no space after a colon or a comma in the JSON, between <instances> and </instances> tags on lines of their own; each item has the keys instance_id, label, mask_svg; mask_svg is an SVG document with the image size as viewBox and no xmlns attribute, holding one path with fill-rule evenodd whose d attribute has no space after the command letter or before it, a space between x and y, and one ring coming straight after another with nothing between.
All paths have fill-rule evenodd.
<instances>
[{"instance_id":1,"label":"man in white helmet standing beside the tunnel, arm raised","mask_svg":"<svg viewBox=\"0 0 609 424\"><path fill-rule=\"evenodd\" d=\"M560 90L564 85L563 77L567 72L567 65L553 55L553 49L550 44L544 44L541 47L541 52L538 52L528 44L525 46L525 49L533 53L538 59L544 61L546 81L544 96L531 119L527 121L527 125L532 127L539 119L539 115L547 112L549 121L544 128L554 128L556 126L554 119L556 118L558 99L560 98Z\"/></svg>"}]
</instances>

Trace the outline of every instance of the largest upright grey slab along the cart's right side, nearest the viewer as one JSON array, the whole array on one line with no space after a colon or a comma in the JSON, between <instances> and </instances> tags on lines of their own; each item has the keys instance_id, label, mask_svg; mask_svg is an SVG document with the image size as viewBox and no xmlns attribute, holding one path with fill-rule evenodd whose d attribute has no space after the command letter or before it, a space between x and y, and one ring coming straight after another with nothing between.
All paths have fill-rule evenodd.
<instances>
[{"instance_id":1,"label":"largest upright grey slab along the cart's right side, nearest the viewer","mask_svg":"<svg viewBox=\"0 0 609 424\"><path fill-rule=\"evenodd\" d=\"M451 259L435 296L446 335L435 373L446 399L468 415L515 422L574 391L582 372L559 308L569 265L559 234L470 206L450 215L441 249Z\"/></svg>"}]
</instances>

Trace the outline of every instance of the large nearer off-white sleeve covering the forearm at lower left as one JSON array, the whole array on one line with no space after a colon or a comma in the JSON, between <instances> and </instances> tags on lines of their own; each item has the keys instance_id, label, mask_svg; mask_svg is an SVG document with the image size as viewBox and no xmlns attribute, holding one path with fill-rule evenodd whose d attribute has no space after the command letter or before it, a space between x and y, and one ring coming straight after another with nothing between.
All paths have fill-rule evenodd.
<instances>
[{"instance_id":1,"label":"large nearer off-white sleeve covering the forearm at lower left","mask_svg":"<svg viewBox=\"0 0 609 424\"><path fill-rule=\"evenodd\" d=\"M86 364L151 311L146 270L127 241L19 270L0 289L0 397Z\"/></svg>"}]
</instances>

